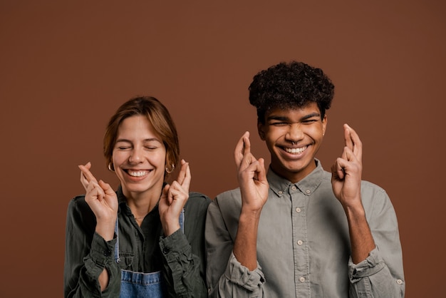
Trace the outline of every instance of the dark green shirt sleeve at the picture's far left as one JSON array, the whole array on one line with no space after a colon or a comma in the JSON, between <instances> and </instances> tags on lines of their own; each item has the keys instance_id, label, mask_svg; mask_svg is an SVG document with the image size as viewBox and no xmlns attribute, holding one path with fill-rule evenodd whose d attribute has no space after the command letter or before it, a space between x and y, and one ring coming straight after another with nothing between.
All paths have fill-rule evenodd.
<instances>
[{"instance_id":1,"label":"dark green shirt sleeve at the picture's far left","mask_svg":"<svg viewBox=\"0 0 446 298\"><path fill-rule=\"evenodd\" d=\"M79 197L68 205L64 297L119 297L120 269L114 260L116 239L107 242L94 232L94 215L85 205ZM103 269L108 271L109 283L101 292L98 277Z\"/></svg>"}]
</instances>

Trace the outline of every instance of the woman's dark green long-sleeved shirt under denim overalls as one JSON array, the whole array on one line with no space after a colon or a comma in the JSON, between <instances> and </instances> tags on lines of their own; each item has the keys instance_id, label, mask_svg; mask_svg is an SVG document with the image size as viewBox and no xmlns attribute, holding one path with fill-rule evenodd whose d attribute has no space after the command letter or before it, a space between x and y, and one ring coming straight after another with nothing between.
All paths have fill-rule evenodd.
<instances>
[{"instance_id":1,"label":"woman's dark green long-sleeved shirt under denim overalls","mask_svg":"<svg viewBox=\"0 0 446 298\"><path fill-rule=\"evenodd\" d=\"M204 283L204 222L210 199L191 192L185 205L185 232L164 237L158 206L135 221L122 190L119 200L119 257L115 262L116 238L105 241L95 233L95 215L85 196L68 205L64 267L64 297L119 297L120 269L134 272L161 271L167 297L207 297ZM109 273L109 284L100 292L99 274Z\"/></svg>"}]
</instances>

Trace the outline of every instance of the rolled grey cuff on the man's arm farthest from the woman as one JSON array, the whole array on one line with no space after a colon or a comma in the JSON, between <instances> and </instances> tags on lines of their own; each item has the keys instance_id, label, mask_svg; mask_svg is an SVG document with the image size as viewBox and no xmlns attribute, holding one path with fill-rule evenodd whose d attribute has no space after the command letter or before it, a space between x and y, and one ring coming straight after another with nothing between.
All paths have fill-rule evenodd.
<instances>
[{"instance_id":1,"label":"rolled grey cuff on the man's arm farthest from the woman","mask_svg":"<svg viewBox=\"0 0 446 298\"><path fill-rule=\"evenodd\" d=\"M348 260L348 277L352 283L358 282L363 277L370 277L380 272L384 267L384 260L380 256L378 247L375 247L368 257L358 264L354 264L350 257L350 260Z\"/></svg>"}]
</instances>

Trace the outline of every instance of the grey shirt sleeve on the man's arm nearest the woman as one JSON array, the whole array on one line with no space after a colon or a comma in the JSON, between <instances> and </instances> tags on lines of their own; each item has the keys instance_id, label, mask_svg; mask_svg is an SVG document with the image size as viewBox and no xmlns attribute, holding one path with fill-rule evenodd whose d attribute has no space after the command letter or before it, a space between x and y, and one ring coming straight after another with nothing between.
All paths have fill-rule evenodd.
<instances>
[{"instance_id":1,"label":"grey shirt sleeve on the man's arm nearest the woman","mask_svg":"<svg viewBox=\"0 0 446 298\"><path fill-rule=\"evenodd\" d=\"M208 207L206 220L207 284L209 297L263 297L264 274L249 271L232 252L233 238L225 225L217 199Z\"/></svg>"}]
</instances>

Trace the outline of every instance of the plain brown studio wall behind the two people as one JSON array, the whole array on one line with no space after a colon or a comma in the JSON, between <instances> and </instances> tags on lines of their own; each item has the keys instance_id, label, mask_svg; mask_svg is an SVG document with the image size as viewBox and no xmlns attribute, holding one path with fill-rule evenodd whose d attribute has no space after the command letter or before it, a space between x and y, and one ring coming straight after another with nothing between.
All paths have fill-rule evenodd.
<instances>
[{"instance_id":1,"label":"plain brown studio wall behind the two people","mask_svg":"<svg viewBox=\"0 0 446 298\"><path fill-rule=\"evenodd\" d=\"M291 59L336 85L325 168L349 123L364 143L363 178L393 201L406 297L444 292L445 2L269 2L0 1L0 297L62 296L77 165L90 160L116 185L101 149L121 103L165 103L192 190L214 197L237 186L232 150L245 130L268 158L247 87Z\"/></svg>"}]
</instances>

